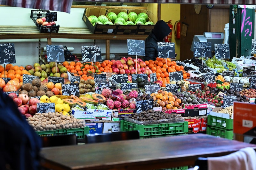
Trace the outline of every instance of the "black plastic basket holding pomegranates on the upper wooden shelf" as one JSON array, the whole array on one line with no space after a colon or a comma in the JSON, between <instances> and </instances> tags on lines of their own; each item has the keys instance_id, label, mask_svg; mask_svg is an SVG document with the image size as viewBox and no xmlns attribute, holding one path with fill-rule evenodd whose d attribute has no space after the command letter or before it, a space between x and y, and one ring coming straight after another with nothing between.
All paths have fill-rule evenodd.
<instances>
[{"instance_id":1,"label":"black plastic basket holding pomegranates on the upper wooden shelf","mask_svg":"<svg viewBox=\"0 0 256 170\"><path fill-rule=\"evenodd\" d=\"M46 16L46 13L50 11L48 10L31 10L30 18L34 21L36 24L37 28L41 33L47 33L47 32L59 32L60 25L53 25L53 26L43 26L43 25L38 25L36 22L36 19L42 18Z\"/></svg>"}]
</instances>

